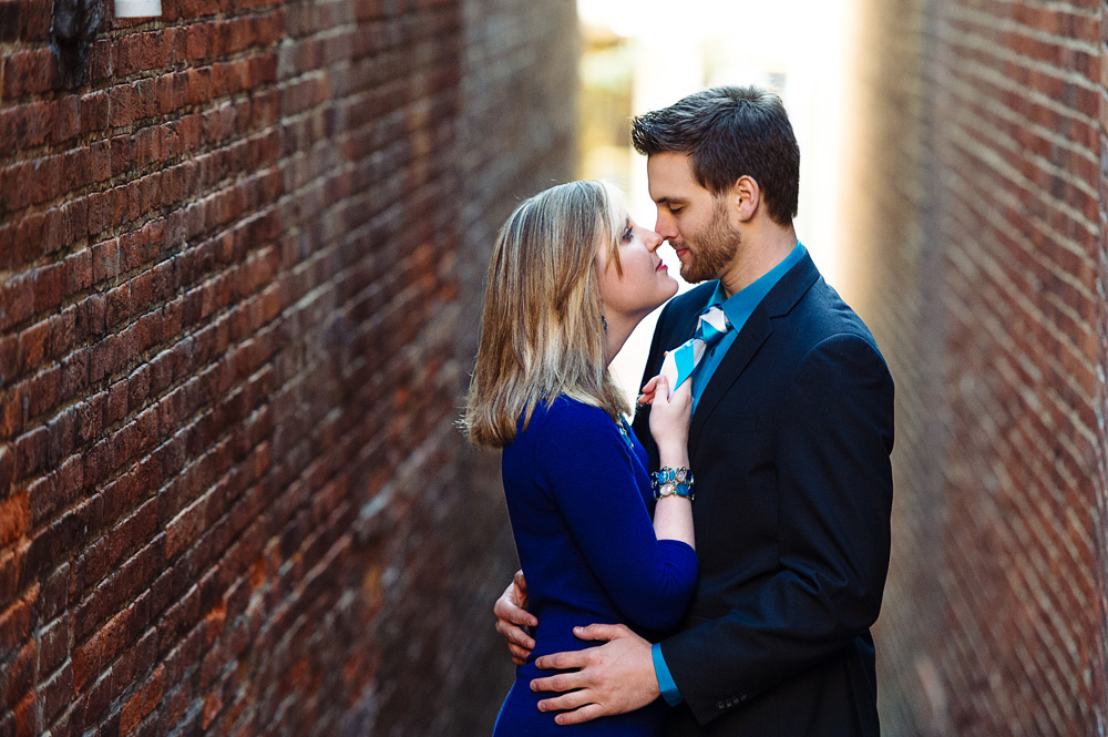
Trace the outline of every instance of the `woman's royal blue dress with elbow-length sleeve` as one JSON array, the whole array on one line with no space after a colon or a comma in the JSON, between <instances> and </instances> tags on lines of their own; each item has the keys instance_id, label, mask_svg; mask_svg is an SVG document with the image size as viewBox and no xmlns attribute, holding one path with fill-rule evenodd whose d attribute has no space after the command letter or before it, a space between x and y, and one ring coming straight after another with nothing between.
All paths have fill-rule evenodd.
<instances>
[{"instance_id":1,"label":"woman's royal blue dress with elbow-length sleeve","mask_svg":"<svg viewBox=\"0 0 1108 737\"><path fill-rule=\"evenodd\" d=\"M538 626L494 737L661 734L668 707L660 698L632 714L563 727L537 708L557 694L530 688L533 678L556 673L535 668L536 657L602 644L576 639L574 626L624 623L654 642L680 622L696 586L696 553L655 538L646 463L626 423L566 397L548 409L540 402L527 429L504 448L504 493Z\"/></svg>"}]
</instances>

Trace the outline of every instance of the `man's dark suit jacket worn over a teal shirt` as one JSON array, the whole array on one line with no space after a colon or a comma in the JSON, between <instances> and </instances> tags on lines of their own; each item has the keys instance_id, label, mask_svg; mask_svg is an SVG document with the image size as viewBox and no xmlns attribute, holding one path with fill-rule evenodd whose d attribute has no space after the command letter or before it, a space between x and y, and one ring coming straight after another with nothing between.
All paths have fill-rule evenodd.
<instances>
[{"instance_id":1,"label":"man's dark suit jacket worn over a teal shirt","mask_svg":"<svg viewBox=\"0 0 1108 737\"><path fill-rule=\"evenodd\" d=\"M671 300L644 381L715 289ZM635 430L657 468L649 410ZM661 653L685 703L670 735L878 735L870 626L889 566L893 381L806 255L739 331L689 429L700 560Z\"/></svg>"}]
</instances>

